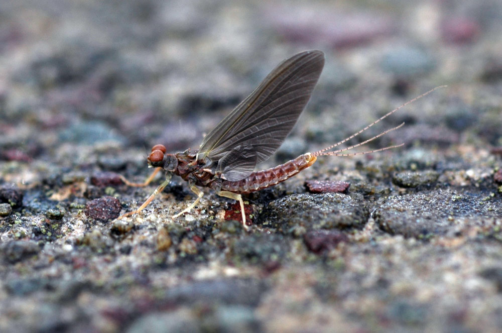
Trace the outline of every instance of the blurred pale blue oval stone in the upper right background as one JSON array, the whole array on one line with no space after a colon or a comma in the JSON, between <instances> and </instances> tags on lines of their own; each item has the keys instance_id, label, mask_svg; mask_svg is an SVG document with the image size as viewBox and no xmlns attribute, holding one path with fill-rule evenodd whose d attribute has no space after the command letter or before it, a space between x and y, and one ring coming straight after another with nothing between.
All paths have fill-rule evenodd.
<instances>
[{"instance_id":1,"label":"blurred pale blue oval stone in the upper right background","mask_svg":"<svg viewBox=\"0 0 502 333\"><path fill-rule=\"evenodd\" d=\"M398 77L423 75L434 69L435 65L431 55L414 47L393 48L382 59L382 68Z\"/></svg>"}]
</instances>

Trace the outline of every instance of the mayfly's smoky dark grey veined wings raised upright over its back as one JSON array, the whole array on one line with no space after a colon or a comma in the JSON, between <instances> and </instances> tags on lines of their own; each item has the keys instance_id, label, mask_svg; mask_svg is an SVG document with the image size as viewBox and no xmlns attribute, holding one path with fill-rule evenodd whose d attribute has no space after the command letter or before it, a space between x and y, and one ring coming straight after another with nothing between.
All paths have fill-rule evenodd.
<instances>
[{"instance_id":1,"label":"mayfly's smoky dark grey veined wings raised upright over its back","mask_svg":"<svg viewBox=\"0 0 502 333\"><path fill-rule=\"evenodd\" d=\"M245 178L256 164L274 154L291 132L310 99L323 66L324 54L317 50L301 52L284 60L204 138L198 159L208 157L218 161L219 170L234 171L230 178ZM232 149L239 149L237 147L245 149L246 163L223 159ZM250 168L249 152L256 154L253 168ZM238 154L232 153L232 156ZM242 169L235 172L239 168Z\"/></svg>"}]
</instances>

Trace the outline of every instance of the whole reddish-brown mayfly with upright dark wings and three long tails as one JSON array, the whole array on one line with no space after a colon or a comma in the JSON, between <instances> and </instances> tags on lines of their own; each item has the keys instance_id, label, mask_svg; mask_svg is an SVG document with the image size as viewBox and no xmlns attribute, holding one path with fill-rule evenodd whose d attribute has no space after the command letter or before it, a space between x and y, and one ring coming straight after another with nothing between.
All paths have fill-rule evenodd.
<instances>
[{"instance_id":1,"label":"whole reddish-brown mayfly with upright dark wings and three long tails","mask_svg":"<svg viewBox=\"0 0 502 333\"><path fill-rule=\"evenodd\" d=\"M281 62L249 96L204 137L198 150L187 149L176 154L166 154L166 148L163 145L155 145L148 157L149 166L156 167L152 176L143 184L130 183L123 177L122 180L129 185L144 186L153 179L155 173L163 169L166 175L165 181L138 209L118 218L143 210L169 184L172 175L175 174L188 181L188 186L197 198L173 218L195 207L203 195L197 186L203 186L213 189L220 196L238 200L242 224L247 229L242 194L259 191L283 182L311 166L319 156L353 156L402 146L343 153L380 138L400 128L404 123L361 143L330 151L392 115L401 107L436 89L399 106L332 146L300 155L294 160L267 170L255 171L257 164L272 156L291 132L310 99L323 66L324 53L317 50L301 52Z\"/></svg>"}]
</instances>

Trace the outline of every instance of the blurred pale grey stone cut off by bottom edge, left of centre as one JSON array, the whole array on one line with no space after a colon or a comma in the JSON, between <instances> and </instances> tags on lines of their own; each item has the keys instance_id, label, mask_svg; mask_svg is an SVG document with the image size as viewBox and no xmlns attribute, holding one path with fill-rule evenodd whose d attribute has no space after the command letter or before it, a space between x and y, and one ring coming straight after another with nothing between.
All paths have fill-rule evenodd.
<instances>
[{"instance_id":1,"label":"blurred pale grey stone cut off by bottom edge, left of centre","mask_svg":"<svg viewBox=\"0 0 502 333\"><path fill-rule=\"evenodd\" d=\"M173 312L154 312L136 319L127 333L200 333L198 318L186 309Z\"/></svg>"}]
</instances>

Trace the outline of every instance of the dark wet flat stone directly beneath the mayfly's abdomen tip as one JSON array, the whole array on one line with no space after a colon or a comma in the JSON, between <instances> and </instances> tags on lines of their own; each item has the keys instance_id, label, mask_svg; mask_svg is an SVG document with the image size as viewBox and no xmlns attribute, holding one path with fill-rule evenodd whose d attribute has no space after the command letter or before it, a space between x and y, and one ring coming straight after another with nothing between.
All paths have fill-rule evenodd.
<instances>
[{"instance_id":1,"label":"dark wet flat stone directly beneath the mayfly's abdomen tip","mask_svg":"<svg viewBox=\"0 0 502 333\"><path fill-rule=\"evenodd\" d=\"M257 225L282 233L332 228L362 228L369 218L362 197L339 193L293 194L270 202Z\"/></svg>"}]
</instances>

